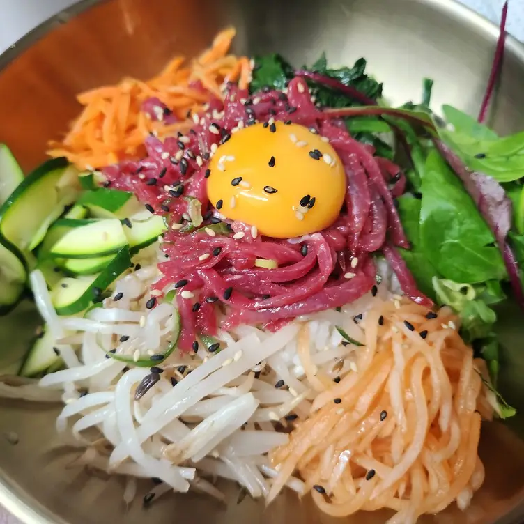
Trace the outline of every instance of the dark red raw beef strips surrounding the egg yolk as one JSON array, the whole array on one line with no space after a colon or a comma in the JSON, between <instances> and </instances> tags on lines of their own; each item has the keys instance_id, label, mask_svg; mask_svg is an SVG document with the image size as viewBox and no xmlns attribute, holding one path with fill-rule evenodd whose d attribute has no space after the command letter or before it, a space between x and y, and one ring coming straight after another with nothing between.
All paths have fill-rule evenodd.
<instances>
[{"instance_id":1,"label":"dark red raw beef strips surrounding the egg yolk","mask_svg":"<svg viewBox=\"0 0 524 524\"><path fill-rule=\"evenodd\" d=\"M157 100L146 101L144 110L160 116L158 105ZM301 239L252 238L251 224L220 224L219 212L208 202L206 169L215 144L229 140L238 128L271 117L306 125L326 137L344 164L345 206L324 231ZM163 276L154 284L163 291L184 279L188 283L180 291L194 295L183 298L180 293L177 298L183 325L180 348L190 350L197 334L214 334L217 323L225 329L238 323L277 329L298 315L352 302L375 284L369 254L381 249L404 291L431 305L392 247L408 247L394 206L394 197L405 187L403 174L389 160L373 156L371 146L350 137L336 114L316 107L304 79L292 79L286 93L257 93L256 103L247 91L231 85L225 102L213 99L205 114L190 118L194 125L185 136L163 142L147 137L146 157L104 169L112 187L137 194L148 209L165 215L170 226L182 224L182 229L170 227L164 234L167 259L159 264ZM210 130L211 124L218 132ZM196 230L187 220L192 198L202 203L203 224ZM213 235L206 231L209 227L222 229ZM234 239L239 231L245 236ZM256 259L275 261L277 268L257 267Z\"/></svg>"}]
</instances>

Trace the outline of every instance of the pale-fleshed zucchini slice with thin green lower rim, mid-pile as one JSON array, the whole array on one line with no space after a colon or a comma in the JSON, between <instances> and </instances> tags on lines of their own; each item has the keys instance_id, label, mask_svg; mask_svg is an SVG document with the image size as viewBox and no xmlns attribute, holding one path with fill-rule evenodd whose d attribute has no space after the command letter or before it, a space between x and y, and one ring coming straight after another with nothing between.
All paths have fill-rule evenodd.
<instances>
[{"instance_id":1,"label":"pale-fleshed zucchini slice with thin green lower rim, mid-pile","mask_svg":"<svg viewBox=\"0 0 524 524\"><path fill-rule=\"evenodd\" d=\"M49 249L49 255L61 259L98 258L116 253L127 244L120 220L100 219L72 227Z\"/></svg>"}]
</instances>

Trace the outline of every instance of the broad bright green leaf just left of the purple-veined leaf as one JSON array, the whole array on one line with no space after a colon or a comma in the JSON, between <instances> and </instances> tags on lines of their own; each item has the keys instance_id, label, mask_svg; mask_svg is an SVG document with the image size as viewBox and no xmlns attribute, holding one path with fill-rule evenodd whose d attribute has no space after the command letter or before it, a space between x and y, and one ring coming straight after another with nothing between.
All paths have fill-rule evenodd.
<instances>
[{"instance_id":1,"label":"broad bright green leaf just left of the purple-veined leaf","mask_svg":"<svg viewBox=\"0 0 524 524\"><path fill-rule=\"evenodd\" d=\"M467 284L505 277L493 233L436 151L426 160L421 192L420 241L436 270L447 279Z\"/></svg>"}]
</instances>

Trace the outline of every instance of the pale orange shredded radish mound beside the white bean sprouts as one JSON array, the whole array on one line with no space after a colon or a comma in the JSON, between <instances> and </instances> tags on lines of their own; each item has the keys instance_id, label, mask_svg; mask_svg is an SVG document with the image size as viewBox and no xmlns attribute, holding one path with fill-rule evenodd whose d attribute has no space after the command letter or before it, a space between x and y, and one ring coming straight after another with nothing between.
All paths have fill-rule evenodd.
<instances>
[{"instance_id":1,"label":"pale orange shredded radish mound beside the white bean sprouts","mask_svg":"<svg viewBox=\"0 0 524 524\"><path fill-rule=\"evenodd\" d=\"M430 320L426 312L381 300L367 312L357 371L339 383L312 380L318 395L309 417L270 453L279 474L268 503L298 472L330 516L389 508L397 512L390 524L408 524L454 501L468 506L484 481L477 448L480 413L493 415L481 378L487 370L449 308ZM309 378L305 329L298 353Z\"/></svg>"}]
</instances>

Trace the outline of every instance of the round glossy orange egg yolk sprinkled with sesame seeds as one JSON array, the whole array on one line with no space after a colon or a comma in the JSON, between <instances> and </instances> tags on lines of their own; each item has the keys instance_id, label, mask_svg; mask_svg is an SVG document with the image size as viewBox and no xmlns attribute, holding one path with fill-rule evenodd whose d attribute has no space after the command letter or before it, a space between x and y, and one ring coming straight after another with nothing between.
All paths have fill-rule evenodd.
<instances>
[{"instance_id":1,"label":"round glossy orange egg yolk sprinkled with sesame seeds","mask_svg":"<svg viewBox=\"0 0 524 524\"><path fill-rule=\"evenodd\" d=\"M330 226L346 194L337 153L318 134L297 124L255 124L239 130L219 146L209 169L213 206L274 238Z\"/></svg>"}]
</instances>

